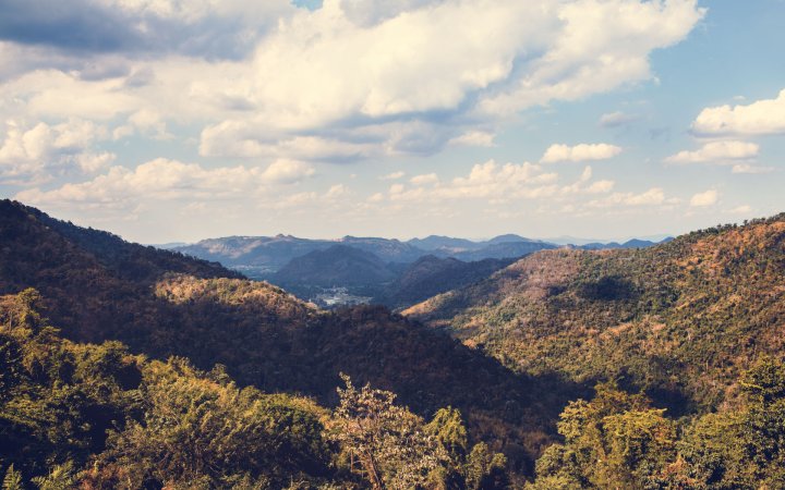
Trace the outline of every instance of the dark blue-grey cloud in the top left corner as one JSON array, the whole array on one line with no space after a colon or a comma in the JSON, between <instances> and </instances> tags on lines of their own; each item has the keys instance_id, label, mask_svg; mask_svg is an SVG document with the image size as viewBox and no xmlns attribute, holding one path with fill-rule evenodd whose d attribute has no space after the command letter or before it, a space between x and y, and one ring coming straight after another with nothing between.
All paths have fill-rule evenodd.
<instances>
[{"instance_id":1,"label":"dark blue-grey cloud in the top left corner","mask_svg":"<svg viewBox=\"0 0 785 490\"><path fill-rule=\"evenodd\" d=\"M285 0L5 0L0 39L74 54L180 52L241 58L297 9ZM77 35L74 35L77 33Z\"/></svg>"}]
</instances>

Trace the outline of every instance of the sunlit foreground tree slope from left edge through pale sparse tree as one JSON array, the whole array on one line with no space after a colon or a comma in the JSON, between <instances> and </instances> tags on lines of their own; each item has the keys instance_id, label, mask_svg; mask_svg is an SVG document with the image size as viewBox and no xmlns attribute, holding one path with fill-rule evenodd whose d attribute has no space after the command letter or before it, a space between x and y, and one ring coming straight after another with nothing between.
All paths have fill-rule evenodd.
<instances>
[{"instance_id":1,"label":"sunlit foreground tree slope from left edge through pale sparse tree","mask_svg":"<svg viewBox=\"0 0 785 490\"><path fill-rule=\"evenodd\" d=\"M63 340L35 290L0 296L3 489L504 488L460 413L430 422L348 377L334 412L240 389L221 366ZM355 465L354 461L360 464Z\"/></svg>"}]
</instances>

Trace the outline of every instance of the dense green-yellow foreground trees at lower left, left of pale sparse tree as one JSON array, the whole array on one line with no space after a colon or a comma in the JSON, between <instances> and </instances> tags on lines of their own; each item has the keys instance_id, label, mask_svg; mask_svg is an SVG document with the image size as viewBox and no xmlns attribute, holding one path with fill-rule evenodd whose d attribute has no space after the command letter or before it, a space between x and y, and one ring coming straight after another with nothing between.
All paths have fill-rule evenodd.
<instances>
[{"instance_id":1,"label":"dense green-yellow foreground trees at lower left, left of pale sparse tree","mask_svg":"<svg viewBox=\"0 0 785 490\"><path fill-rule=\"evenodd\" d=\"M241 390L220 368L182 358L148 362L119 342L64 341L38 298L0 297L7 488L22 488L21 475L41 489L280 488L335 473L322 437L328 412L314 402Z\"/></svg>"}]
</instances>

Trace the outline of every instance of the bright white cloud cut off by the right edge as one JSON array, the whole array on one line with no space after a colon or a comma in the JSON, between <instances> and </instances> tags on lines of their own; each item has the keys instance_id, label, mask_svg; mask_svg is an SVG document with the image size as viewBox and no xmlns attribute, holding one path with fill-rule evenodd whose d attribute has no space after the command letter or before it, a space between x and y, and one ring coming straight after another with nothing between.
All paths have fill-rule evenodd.
<instances>
[{"instance_id":1,"label":"bright white cloud cut off by the right edge","mask_svg":"<svg viewBox=\"0 0 785 490\"><path fill-rule=\"evenodd\" d=\"M703 109L692 131L702 135L785 134L785 89L775 99Z\"/></svg>"}]
</instances>

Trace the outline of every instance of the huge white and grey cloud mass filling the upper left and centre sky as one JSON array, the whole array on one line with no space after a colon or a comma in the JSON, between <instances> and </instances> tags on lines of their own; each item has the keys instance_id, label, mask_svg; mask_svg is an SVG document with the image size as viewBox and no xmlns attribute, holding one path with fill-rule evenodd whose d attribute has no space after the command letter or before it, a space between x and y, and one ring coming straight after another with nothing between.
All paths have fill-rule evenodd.
<instances>
[{"instance_id":1,"label":"huge white and grey cloud mass filling the upper left and centre sky","mask_svg":"<svg viewBox=\"0 0 785 490\"><path fill-rule=\"evenodd\" d=\"M21 113L120 115L117 138L183 121L204 156L326 161L492 146L506 114L649 78L651 51L703 15L695 0L7 3L4 45L50 53L0 84Z\"/></svg>"}]
</instances>

